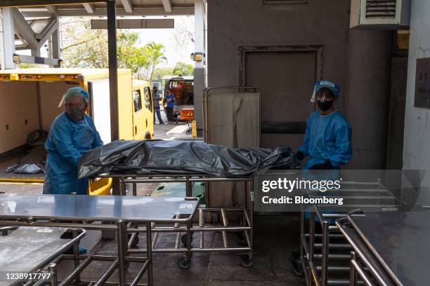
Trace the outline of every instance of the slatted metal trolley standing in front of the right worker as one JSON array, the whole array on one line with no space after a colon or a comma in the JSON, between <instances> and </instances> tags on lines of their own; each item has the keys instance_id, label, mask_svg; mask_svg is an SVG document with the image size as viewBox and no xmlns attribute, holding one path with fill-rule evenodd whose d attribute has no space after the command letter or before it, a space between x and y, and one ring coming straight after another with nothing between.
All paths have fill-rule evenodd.
<instances>
[{"instance_id":1,"label":"slatted metal trolley standing in front of the right worker","mask_svg":"<svg viewBox=\"0 0 430 286\"><path fill-rule=\"evenodd\" d=\"M358 207L395 207L401 203L380 182L342 182L341 189L327 191L324 196L341 196L345 202L340 206L312 205L301 211L300 259L306 285L349 285L351 245L334 220Z\"/></svg>"}]
</instances>

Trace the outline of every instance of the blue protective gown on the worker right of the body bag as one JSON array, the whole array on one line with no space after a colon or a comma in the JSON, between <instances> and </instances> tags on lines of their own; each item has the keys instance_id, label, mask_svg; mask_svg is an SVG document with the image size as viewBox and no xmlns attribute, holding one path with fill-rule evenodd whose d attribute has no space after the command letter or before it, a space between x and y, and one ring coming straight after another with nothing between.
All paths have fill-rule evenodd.
<instances>
[{"instance_id":1,"label":"blue protective gown on the worker right of the body bag","mask_svg":"<svg viewBox=\"0 0 430 286\"><path fill-rule=\"evenodd\" d=\"M325 116L315 111L306 121L306 133L299 151L305 157L311 156L304 170L327 159L334 169L338 169L352 157L351 125L338 111Z\"/></svg>"}]
</instances>

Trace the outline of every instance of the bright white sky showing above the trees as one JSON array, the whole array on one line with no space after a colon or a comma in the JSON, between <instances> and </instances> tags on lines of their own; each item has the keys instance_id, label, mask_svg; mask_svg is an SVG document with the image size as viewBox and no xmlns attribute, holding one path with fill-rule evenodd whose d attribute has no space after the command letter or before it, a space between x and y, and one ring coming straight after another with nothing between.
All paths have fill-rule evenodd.
<instances>
[{"instance_id":1,"label":"bright white sky showing above the trees","mask_svg":"<svg viewBox=\"0 0 430 286\"><path fill-rule=\"evenodd\" d=\"M155 19L161 17L145 17L145 19ZM145 46L146 43L155 41L162 43L166 47L165 56L167 62L162 62L157 67L174 67L176 62L185 62L193 64L190 59L190 54L194 52L194 43L192 41L183 41L178 45L175 40L175 34L181 34L184 29L194 34L194 16L172 16L169 18L175 19L175 29L133 29L133 32L138 32L141 43L139 46ZM30 50L20 50L18 53L22 55L30 55ZM41 48L41 57L47 57L47 51Z\"/></svg>"}]
</instances>

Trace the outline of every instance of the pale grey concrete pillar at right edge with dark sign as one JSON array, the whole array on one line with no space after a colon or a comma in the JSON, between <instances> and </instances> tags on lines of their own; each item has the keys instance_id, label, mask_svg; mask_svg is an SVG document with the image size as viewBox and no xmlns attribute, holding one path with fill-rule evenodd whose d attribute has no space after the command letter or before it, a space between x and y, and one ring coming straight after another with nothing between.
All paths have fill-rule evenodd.
<instances>
[{"instance_id":1,"label":"pale grey concrete pillar at right edge with dark sign","mask_svg":"<svg viewBox=\"0 0 430 286\"><path fill-rule=\"evenodd\" d=\"M411 1L403 169L430 169L430 109L414 107L417 59L430 57L430 1ZM430 74L430 70L428 71Z\"/></svg>"}]
</instances>

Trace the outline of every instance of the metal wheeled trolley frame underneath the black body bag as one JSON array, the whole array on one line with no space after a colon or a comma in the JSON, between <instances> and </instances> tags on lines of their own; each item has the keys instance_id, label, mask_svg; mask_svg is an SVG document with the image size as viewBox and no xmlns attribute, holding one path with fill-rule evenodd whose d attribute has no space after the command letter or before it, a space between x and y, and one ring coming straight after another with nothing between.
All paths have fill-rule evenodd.
<instances>
[{"instance_id":1,"label":"metal wheeled trolley frame underneath the black body bag","mask_svg":"<svg viewBox=\"0 0 430 286\"><path fill-rule=\"evenodd\" d=\"M236 252L241 254L242 266L251 267L253 264L253 191L252 191L252 177L237 177L237 178L225 178L225 177L211 177L209 175L100 175L98 177L117 177L120 182L120 192L123 196L126 195L126 184L132 184L133 196L136 196L136 184L143 183L165 183L165 182L181 182L185 183L185 196L192 195L192 184L193 182L242 182L243 184L243 200L242 207L207 207L207 205L200 205L198 207L198 223L193 224L190 220L181 226L176 223L174 226L157 226L156 223L152 224L151 231L154 233L152 241L153 253L184 253L185 257L178 259L178 266L183 269L190 268L191 257L195 252ZM205 198L209 198L209 191L205 188ZM239 214L242 219L239 225L232 226L228 220L228 213ZM221 215L221 226L207 226L205 224L205 214L220 214ZM136 236L138 232L144 232L145 230L139 229L138 225L131 227L129 225L129 231L132 234L129 239L129 247L136 244ZM223 241L223 247L206 247L204 245L204 233L207 232L221 232L221 238ZM228 244L227 233L234 232L237 234L243 234L237 236L237 241L240 242L241 247L230 247ZM155 248L155 242L159 233L176 233L176 242L173 248ZM185 233L185 236L181 236L181 233ZM200 234L199 247L193 247L191 245L193 240L193 233ZM180 242L185 247L180 247ZM243 245L243 246L242 246ZM145 253L144 249L131 249L130 253L140 254Z\"/></svg>"}]
</instances>

